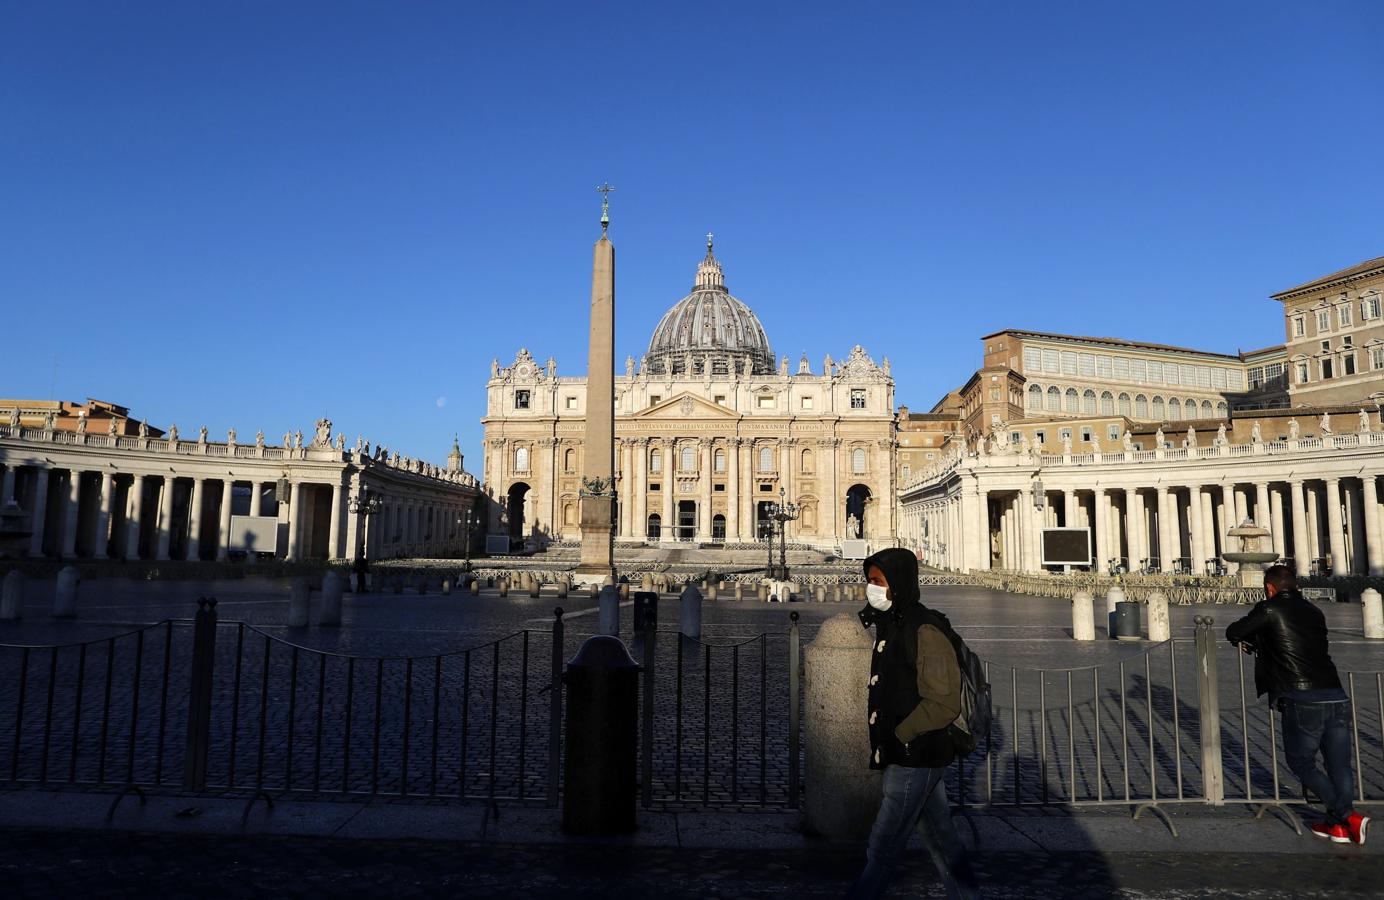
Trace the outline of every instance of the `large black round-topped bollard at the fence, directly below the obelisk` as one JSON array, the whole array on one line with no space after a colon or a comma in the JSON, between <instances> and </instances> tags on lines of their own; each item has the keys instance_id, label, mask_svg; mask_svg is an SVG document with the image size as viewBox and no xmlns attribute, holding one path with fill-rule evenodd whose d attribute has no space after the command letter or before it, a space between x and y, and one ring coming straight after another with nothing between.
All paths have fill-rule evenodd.
<instances>
[{"instance_id":1,"label":"large black round-topped bollard at the fence, directly below the obelisk","mask_svg":"<svg viewBox=\"0 0 1384 900\"><path fill-rule=\"evenodd\" d=\"M634 831L639 666L617 637L597 634L567 662L566 786L562 829Z\"/></svg>"}]
</instances>

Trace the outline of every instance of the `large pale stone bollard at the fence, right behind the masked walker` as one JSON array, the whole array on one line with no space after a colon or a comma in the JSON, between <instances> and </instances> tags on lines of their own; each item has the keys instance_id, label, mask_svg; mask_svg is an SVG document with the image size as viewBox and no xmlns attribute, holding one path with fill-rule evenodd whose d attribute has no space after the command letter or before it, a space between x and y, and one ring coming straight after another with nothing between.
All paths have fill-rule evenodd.
<instances>
[{"instance_id":1,"label":"large pale stone bollard at the fence, right behind the masked walker","mask_svg":"<svg viewBox=\"0 0 1384 900\"><path fill-rule=\"evenodd\" d=\"M857 840L869 835L879 811L880 774L868 767L866 714L873 638L855 616L822 623L807 645L807 770L804 825L814 835Z\"/></svg>"}]
</instances>

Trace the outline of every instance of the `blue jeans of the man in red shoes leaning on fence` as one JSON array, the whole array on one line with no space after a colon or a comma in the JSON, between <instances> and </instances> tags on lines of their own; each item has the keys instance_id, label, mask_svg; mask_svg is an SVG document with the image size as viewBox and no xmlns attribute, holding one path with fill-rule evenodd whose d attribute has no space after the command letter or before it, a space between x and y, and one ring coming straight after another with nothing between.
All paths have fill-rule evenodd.
<instances>
[{"instance_id":1,"label":"blue jeans of the man in red shoes leaning on fence","mask_svg":"<svg viewBox=\"0 0 1384 900\"><path fill-rule=\"evenodd\" d=\"M1351 703L1302 703L1283 698L1283 755L1302 786L1322 798L1326 824L1340 825L1351 814L1355 778L1351 773ZM1323 773L1316 764L1322 753Z\"/></svg>"}]
</instances>

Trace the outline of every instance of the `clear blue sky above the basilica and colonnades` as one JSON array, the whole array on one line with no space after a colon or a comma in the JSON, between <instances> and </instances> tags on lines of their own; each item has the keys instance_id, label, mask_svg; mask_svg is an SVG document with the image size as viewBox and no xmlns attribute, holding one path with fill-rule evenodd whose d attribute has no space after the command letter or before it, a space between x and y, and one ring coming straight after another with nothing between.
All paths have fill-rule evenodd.
<instances>
[{"instance_id":1,"label":"clear blue sky above the basilica and colonnades","mask_svg":"<svg viewBox=\"0 0 1384 900\"><path fill-rule=\"evenodd\" d=\"M1235 352L1384 255L1384 4L0 6L0 396L327 413L479 471L490 359L617 357L717 234L779 353L930 406L1002 327Z\"/></svg>"}]
</instances>

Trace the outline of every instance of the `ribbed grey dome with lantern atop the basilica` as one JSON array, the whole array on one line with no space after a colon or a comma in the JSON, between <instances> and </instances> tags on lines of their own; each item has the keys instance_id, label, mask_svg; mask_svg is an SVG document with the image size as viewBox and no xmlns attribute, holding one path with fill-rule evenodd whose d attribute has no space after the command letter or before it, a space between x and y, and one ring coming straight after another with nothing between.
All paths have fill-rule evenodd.
<instances>
[{"instance_id":1,"label":"ribbed grey dome with lantern atop the basilica","mask_svg":"<svg viewBox=\"0 0 1384 900\"><path fill-rule=\"evenodd\" d=\"M696 270L692 294L663 314L649 339L645 371L652 374L713 374L743 372L746 360L757 375L774 371L774 350L770 349L764 325L750 307L725 289L721 263L711 253L707 235L706 259Z\"/></svg>"}]
</instances>

